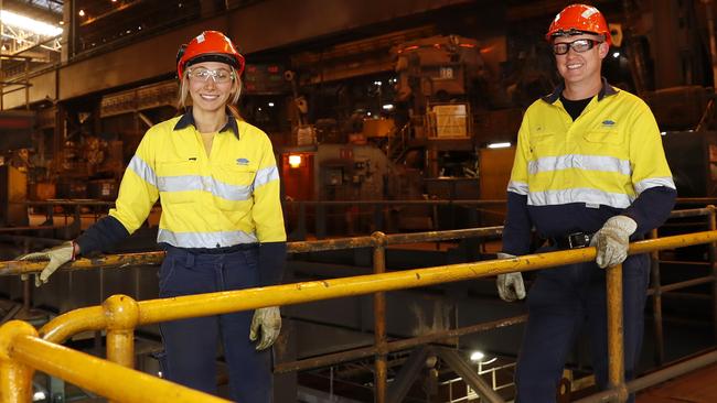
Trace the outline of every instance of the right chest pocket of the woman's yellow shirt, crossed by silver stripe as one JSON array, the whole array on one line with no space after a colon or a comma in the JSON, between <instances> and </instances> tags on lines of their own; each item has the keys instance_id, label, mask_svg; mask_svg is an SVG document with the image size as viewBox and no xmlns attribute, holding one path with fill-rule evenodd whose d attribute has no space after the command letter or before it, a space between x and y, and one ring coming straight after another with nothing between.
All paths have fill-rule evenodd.
<instances>
[{"instance_id":1,"label":"right chest pocket of the woman's yellow shirt, crossed by silver stripe","mask_svg":"<svg viewBox=\"0 0 717 403\"><path fill-rule=\"evenodd\" d=\"M238 210L254 194L257 167L217 164L212 166L212 196L222 210Z\"/></svg>"}]
</instances>

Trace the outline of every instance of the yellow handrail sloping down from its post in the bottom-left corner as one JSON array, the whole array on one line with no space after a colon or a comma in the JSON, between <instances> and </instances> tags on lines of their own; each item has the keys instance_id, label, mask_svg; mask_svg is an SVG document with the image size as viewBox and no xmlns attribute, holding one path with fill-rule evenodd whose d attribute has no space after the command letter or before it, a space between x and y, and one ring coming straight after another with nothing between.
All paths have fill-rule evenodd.
<instances>
[{"instance_id":1,"label":"yellow handrail sloping down from its post in the bottom-left corner","mask_svg":"<svg viewBox=\"0 0 717 403\"><path fill-rule=\"evenodd\" d=\"M32 372L62 378L117 402L228 402L111 361L36 337L32 325L11 320L0 327L0 402L29 402ZM119 382L121 380L121 383Z\"/></svg>"}]
</instances>

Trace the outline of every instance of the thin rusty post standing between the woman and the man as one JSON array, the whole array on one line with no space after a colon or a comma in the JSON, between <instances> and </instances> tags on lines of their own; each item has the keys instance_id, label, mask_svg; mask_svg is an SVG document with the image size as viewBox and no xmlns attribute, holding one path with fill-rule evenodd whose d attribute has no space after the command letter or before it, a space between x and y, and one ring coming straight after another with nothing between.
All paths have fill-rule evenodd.
<instances>
[{"instance_id":1,"label":"thin rusty post standing between the woman and the man","mask_svg":"<svg viewBox=\"0 0 717 403\"><path fill-rule=\"evenodd\" d=\"M374 274L386 272L386 235L376 231L372 233L374 239ZM376 360L374 362L376 384L374 401L385 403L386 383L388 378L388 362L386 346L386 293L374 294L374 342L376 345Z\"/></svg>"}]
</instances>

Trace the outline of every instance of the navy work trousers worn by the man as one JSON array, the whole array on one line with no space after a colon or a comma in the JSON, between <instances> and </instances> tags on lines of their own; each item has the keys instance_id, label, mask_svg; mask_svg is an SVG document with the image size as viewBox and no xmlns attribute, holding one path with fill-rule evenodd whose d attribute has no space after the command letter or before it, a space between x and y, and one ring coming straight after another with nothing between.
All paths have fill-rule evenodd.
<instances>
[{"instance_id":1,"label":"navy work trousers worn by the man","mask_svg":"<svg viewBox=\"0 0 717 403\"><path fill-rule=\"evenodd\" d=\"M634 377L642 348L650 264L646 254L622 265L624 369ZM567 355L588 326L596 382L608 386L606 271L595 262L543 270L528 296L528 322L517 360L516 402L555 402ZM631 396L634 401L634 396Z\"/></svg>"}]
</instances>

